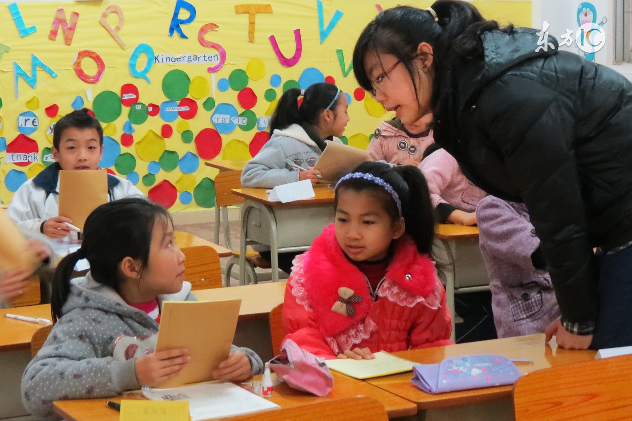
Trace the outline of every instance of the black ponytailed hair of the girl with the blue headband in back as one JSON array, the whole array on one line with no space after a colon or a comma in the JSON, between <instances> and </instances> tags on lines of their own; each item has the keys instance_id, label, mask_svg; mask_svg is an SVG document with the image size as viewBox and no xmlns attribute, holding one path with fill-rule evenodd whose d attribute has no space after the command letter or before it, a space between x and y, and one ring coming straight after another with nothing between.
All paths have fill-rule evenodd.
<instances>
[{"instance_id":1,"label":"black ponytailed hair of the girl with the blue headband in back","mask_svg":"<svg viewBox=\"0 0 632 421\"><path fill-rule=\"evenodd\" d=\"M334 118L336 118L336 107L344 94L336 85L321 82L314 83L305 89L303 102L299 106L298 97L300 95L301 90L299 88L289 88L281 95L268 125L270 135L274 133L275 129L283 130L294 124L300 125L314 143L318 145L320 150L325 150L324 139L316 135L312 126L319 124L320 114L327 109L329 104L331 104L329 109L331 109L334 113Z\"/></svg>"}]
</instances>

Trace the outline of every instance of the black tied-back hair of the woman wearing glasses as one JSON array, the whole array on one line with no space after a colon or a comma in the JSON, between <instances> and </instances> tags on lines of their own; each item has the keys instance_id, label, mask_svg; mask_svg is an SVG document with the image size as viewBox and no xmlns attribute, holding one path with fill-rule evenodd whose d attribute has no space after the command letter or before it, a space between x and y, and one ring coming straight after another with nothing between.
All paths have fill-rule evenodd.
<instances>
[{"instance_id":1,"label":"black tied-back hair of the woman wearing glasses","mask_svg":"<svg viewBox=\"0 0 632 421\"><path fill-rule=\"evenodd\" d=\"M431 7L437 20L427 9L397 6L379 13L368 23L353 50L353 73L362 88L373 89L365 68L367 54L392 54L408 71L416 95L417 47L427 42L433 49L432 104L435 104L449 64L483 58L480 34L491 30L513 31L513 25L501 28L497 21L485 20L475 6L465 1L438 0Z\"/></svg>"}]
</instances>

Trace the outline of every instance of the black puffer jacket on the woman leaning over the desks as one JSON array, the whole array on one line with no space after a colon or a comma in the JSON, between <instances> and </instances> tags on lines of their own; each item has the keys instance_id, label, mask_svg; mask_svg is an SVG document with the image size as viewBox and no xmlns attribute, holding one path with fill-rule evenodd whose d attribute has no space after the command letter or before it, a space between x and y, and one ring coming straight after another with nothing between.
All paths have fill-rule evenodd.
<instances>
[{"instance_id":1,"label":"black puffer jacket on the woman leaning over the desks","mask_svg":"<svg viewBox=\"0 0 632 421\"><path fill-rule=\"evenodd\" d=\"M632 241L632 84L536 30L482 35L441 83L435 141L473 183L524 202L564 320L597 319L592 248Z\"/></svg>"}]
</instances>

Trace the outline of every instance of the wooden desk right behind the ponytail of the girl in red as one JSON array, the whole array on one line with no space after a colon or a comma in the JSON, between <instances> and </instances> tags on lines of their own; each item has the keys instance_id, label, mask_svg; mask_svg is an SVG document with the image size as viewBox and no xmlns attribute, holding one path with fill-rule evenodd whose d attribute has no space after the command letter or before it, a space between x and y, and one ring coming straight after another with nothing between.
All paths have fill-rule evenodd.
<instances>
[{"instance_id":1,"label":"wooden desk right behind the ponytail of the girl in red","mask_svg":"<svg viewBox=\"0 0 632 421\"><path fill-rule=\"evenodd\" d=\"M489 278L478 248L478 227L437 224L432 252L446 283L447 307L452 316L450 340L454 342L454 293L489 291Z\"/></svg>"}]
</instances>

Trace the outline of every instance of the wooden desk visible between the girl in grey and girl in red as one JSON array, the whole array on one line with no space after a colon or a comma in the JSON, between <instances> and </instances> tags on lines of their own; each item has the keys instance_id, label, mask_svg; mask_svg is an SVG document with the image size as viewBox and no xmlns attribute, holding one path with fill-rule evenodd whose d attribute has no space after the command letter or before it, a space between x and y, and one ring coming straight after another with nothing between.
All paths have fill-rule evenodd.
<instances>
[{"instance_id":1,"label":"wooden desk visible between the girl in grey and girl in red","mask_svg":"<svg viewBox=\"0 0 632 421\"><path fill-rule=\"evenodd\" d=\"M255 351L262 360L270 360L272 338L270 338L270 311L283 303L286 281L231 288L211 288L193 291L198 300L234 300L241 298L239 319L233 339L234 345L246 346Z\"/></svg>"}]
</instances>

